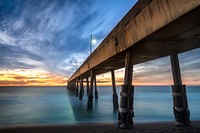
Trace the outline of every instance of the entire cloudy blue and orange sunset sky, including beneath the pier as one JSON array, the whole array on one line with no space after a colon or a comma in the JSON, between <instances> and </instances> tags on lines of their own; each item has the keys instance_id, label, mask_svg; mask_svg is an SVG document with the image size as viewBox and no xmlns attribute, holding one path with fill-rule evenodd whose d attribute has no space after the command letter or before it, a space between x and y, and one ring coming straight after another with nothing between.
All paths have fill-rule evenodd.
<instances>
[{"instance_id":1,"label":"entire cloudy blue and orange sunset sky, including beneath the pier","mask_svg":"<svg viewBox=\"0 0 200 133\"><path fill-rule=\"evenodd\" d=\"M0 86L66 85L137 0L0 0ZM182 79L200 85L200 49L179 54ZM117 85L124 69L116 70ZM110 73L97 76L110 85ZM133 84L171 85L169 57L134 66Z\"/></svg>"}]
</instances>

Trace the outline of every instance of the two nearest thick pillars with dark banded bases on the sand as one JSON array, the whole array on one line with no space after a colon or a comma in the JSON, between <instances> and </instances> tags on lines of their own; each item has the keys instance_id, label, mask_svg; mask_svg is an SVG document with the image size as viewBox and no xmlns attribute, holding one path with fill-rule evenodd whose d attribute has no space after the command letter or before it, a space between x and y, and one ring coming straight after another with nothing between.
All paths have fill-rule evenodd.
<instances>
[{"instance_id":1,"label":"two nearest thick pillars with dark banded bases on the sand","mask_svg":"<svg viewBox=\"0 0 200 133\"><path fill-rule=\"evenodd\" d=\"M120 91L120 106L118 115L119 128L133 127L133 100L134 100L134 86L132 86L133 65L131 51L126 52L125 59L125 75L124 85L121 86ZM170 54L172 74L174 85L172 85L173 97L173 111L175 116L175 124L178 126L189 126L190 111L188 109L187 93L185 85L182 85L181 72L177 53Z\"/></svg>"}]
</instances>

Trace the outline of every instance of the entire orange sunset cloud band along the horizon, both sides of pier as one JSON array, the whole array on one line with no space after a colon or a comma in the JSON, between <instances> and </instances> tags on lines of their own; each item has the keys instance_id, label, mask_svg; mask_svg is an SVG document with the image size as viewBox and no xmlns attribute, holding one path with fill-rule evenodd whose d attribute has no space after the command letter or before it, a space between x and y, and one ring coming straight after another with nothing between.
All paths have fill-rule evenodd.
<instances>
[{"instance_id":1,"label":"entire orange sunset cloud band along the horizon, both sides of pier","mask_svg":"<svg viewBox=\"0 0 200 133\"><path fill-rule=\"evenodd\" d=\"M171 73L151 73L148 75L136 70L133 74L133 85L162 86L173 84ZM199 74L192 75L183 74L183 84L200 85ZM116 70L115 78L116 85L122 85L124 82L124 69ZM66 86L67 79L65 76L39 69L0 69L0 86ZM112 85L111 81L110 72L97 76L98 86L110 86Z\"/></svg>"}]
</instances>

